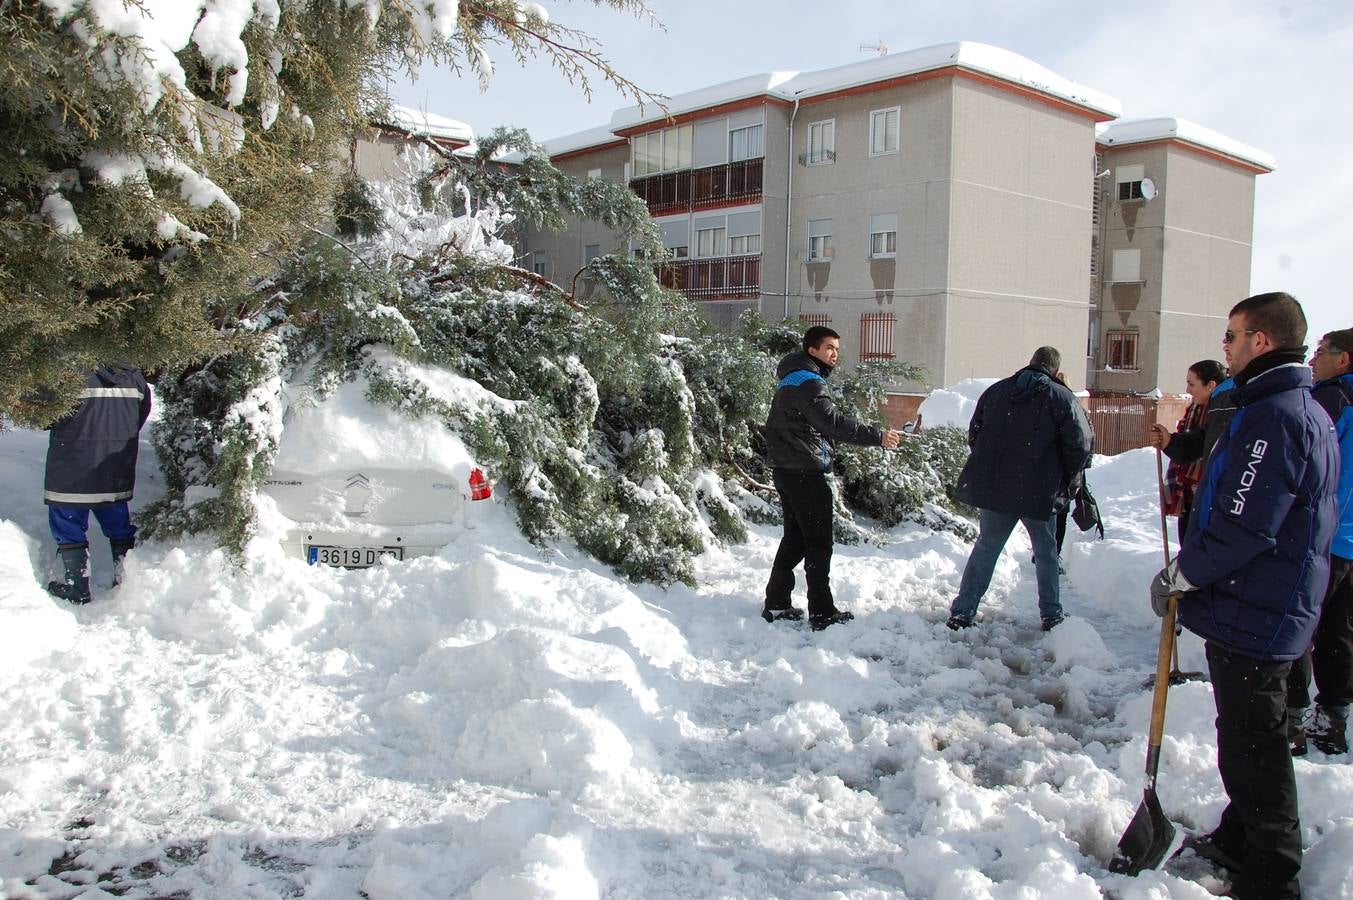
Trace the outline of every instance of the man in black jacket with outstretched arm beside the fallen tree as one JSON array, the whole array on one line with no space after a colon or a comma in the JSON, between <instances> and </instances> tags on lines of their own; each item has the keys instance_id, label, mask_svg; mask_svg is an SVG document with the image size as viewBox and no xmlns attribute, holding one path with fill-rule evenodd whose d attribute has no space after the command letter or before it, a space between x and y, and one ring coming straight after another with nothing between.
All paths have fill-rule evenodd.
<instances>
[{"instance_id":1,"label":"man in black jacket with outstretched arm beside the fallen tree","mask_svg":"<svg viewBox=\"0 0 1353 900\"><path fill-rule=\"evenodd\" d=\"M854 616L836 609L832 600L832 471L835 441L892 449L901 432L881 430L842 415L827 391L827 378L836 368L840 334L816 325L804 334L804 351L779 363L779 384L766 420L766 449L775 491L785 509L785 536L771 563L762 618L802 618L790 604L794 567L804 563L808 582L808 621L813 631Z\"/></svg>"}]
</instances>

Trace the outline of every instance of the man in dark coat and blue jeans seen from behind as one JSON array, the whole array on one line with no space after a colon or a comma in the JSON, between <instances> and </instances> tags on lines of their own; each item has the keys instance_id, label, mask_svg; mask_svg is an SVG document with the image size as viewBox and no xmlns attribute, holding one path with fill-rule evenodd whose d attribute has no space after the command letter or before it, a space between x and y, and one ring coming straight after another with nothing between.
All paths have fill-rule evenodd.
<instances>
[{"instance_id":1,"label":"man in dark coat and blue jeans seen from behind","mask_svg":"<svg viewBox=\"0 0 1353 900\"><path fill-rule=\"evenodd\" d=\"M954 631L976 621L996 560L1019 522L1034 543L1043 631L1063 618L1057 510L1070 502L1072 485L1089 462L1095 434L1076 394L1057 380L1061 365L1057 348L1040 346L1028 365L992 384L977 401L967 425L971 453L954 497L977 506L978 535L948 610L946 624Z\"/></svg>"}]
</instances>

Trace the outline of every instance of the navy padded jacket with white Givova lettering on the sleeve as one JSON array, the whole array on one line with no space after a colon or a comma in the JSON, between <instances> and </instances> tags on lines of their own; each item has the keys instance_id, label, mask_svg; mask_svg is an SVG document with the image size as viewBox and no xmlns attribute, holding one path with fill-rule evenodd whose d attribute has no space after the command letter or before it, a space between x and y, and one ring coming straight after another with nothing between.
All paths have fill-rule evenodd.
<instances>
[{"instance_id":1,"label":"navy padded jacket with white Givova lettering on the sleeve","mask_svg":"<svg viewBox=\"0 0 1353 900\"><path fill-rule=\"evenodd\" d=\"M1254 659L1296 659L1311 646L1330 577L1338 447L1299 357L1266 353L1237 378L1235 415L1178 554L1197 587L1180 601L1180 623Z\"/></svg>"}]
</instances>

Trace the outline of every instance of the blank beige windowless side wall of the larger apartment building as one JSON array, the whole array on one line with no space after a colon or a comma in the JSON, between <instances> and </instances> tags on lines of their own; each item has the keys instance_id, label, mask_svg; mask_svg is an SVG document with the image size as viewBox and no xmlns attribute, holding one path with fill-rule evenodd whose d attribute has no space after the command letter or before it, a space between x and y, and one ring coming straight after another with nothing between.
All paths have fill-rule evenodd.
<instances>
[{"instance_id":1,"label":"blank beige windowless side wall of the larger apartment building","mask_svg":"<svg viewBox=\"0 0 1353 900\"><path fill-rule=\"evenodd\" d=\"M1084 387L1093 123L967 78L953 96L943 383L1008 375L1053 345Z\"/></svg>"}]
</instances>

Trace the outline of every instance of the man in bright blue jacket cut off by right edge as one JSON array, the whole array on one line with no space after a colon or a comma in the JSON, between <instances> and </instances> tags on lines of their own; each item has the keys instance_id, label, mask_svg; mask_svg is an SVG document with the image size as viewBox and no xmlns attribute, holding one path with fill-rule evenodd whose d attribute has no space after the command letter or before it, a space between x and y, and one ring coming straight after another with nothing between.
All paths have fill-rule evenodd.
<instances>
[{"instance_id":1,"label":"man in bright blue jacket cut off by right edge","mask_svg":"<svg viewBox=\"0 0 1353 900\"><path fill-rule=\"evenodd\" d=\"M1349 705L1353 705L1353 328L1330 332L1311 357L1311 397L1330 414L1339 441L1339 521L1330 547L1330 586L1311 650L1292 665L1287 683L1288 717L1304 719L1315 675L1315 715L1298 732L1292 752L1304 740L1326 754L1349 751Z\"/></svg>"}]
</instances>

